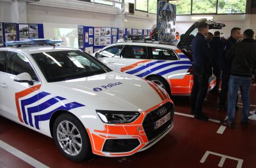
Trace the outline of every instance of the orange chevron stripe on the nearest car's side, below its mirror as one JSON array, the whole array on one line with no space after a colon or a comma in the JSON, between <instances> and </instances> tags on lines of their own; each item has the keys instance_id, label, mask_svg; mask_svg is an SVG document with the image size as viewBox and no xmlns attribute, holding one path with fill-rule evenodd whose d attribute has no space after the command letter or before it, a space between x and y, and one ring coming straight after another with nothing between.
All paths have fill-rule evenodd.
<instances>
[{"instance_id":1,"label":"orange chevron stripe on the nearest car's side, below its mirror","mask_svg":"<svg viewBox=\"0 0 256 168\"><path fill-rule=\"evenodd\" d=\"M15 93L15 103L16 103L16 108L17 108L18 117L20 119L20 122L24 122L23 119L22 119L22 113L20 112L20 102L19 102L20 97L24 97L26 95L29 95L30 93L40 89L40 87L41 87L41 85L36 85L36 86L30 87L30 88L28 88L24 91L20 91L20 92Z\"/></svg>"}]
</instances>

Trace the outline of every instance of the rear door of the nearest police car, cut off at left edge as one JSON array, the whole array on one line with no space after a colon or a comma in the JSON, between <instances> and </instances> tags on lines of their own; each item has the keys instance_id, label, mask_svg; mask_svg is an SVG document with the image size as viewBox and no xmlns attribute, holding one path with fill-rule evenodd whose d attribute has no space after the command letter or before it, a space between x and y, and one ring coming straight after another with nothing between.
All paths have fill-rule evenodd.
<instances>
[{"instance_id":1,"label":"rear door of the nearest police car, cut off at left edge","mask_svg":"<svg viewBox=\"0 0 256 168\"><path fill-rule=\"evenodd\" d=\"M5 60L7 58L7 51L0 51L0 114L2 113L2 99L4 99L3 94L3 86L5 85L5 81L3 80L3 76L5 73Z\"/></svg>"}]
</instances>

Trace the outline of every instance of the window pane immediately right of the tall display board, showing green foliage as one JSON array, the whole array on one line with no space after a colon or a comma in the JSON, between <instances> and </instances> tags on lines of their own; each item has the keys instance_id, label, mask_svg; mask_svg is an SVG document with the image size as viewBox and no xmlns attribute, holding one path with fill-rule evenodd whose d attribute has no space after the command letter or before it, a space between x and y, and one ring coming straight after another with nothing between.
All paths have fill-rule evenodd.
<instances>
[{"instance_id":1,"label":"window pane immediately right of the tall display board, showing green foliage","mask_svg":"<svg viewBox=\"0 0 256 168\"><path fill-rule=\"evenodd\" d=\"M169 1L176 6L177 15L190 15L191 14L191 0Z\"/></svg>"}]
</instances>

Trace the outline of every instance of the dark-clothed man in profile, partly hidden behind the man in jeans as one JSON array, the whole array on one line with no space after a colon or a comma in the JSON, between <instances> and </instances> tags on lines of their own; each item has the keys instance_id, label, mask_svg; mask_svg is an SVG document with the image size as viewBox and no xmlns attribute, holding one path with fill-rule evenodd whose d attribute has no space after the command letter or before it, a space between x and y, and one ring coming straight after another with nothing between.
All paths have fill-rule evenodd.
<instances>
[{"instance_id":1,"label":"dark-clothed man in profile, partly hidden behind the man in jeans","mask_svg":"<svg viewBox=\"0 0 256 168\"><path fill-rule=\"evenodd\" d=\"M226 100L228 97L228 80L230 76L230 65L226 60L226 53L235 44L241 35L241 28L232 28L231 36L224 42L222 56L220 58L220 69L222 71L222 89L220 91L219 110L226 111Z\"/></svg>"}]
</instances>

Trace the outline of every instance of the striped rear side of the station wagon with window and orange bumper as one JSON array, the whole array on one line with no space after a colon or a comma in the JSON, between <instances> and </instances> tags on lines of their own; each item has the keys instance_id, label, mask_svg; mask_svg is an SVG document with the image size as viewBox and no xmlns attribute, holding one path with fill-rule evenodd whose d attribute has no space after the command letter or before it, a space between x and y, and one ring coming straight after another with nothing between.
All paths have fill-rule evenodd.
<instances>
[{"instance_id":1,"label":"striped rear side of the station wagon with window and orange bumper","mask_svg":"<svg viewBox=\"0 0 256 168\"><path fill-rule=\"evenodd\" d=\"M170 83L173 95L188 94L191 75L187 75L187 71L191 67L191 61L179 58L177 52L168 48L150 47L150 55L152 62L156 64L150 66L143 77L159 75Z\"/></svg>"}]
</instances>

